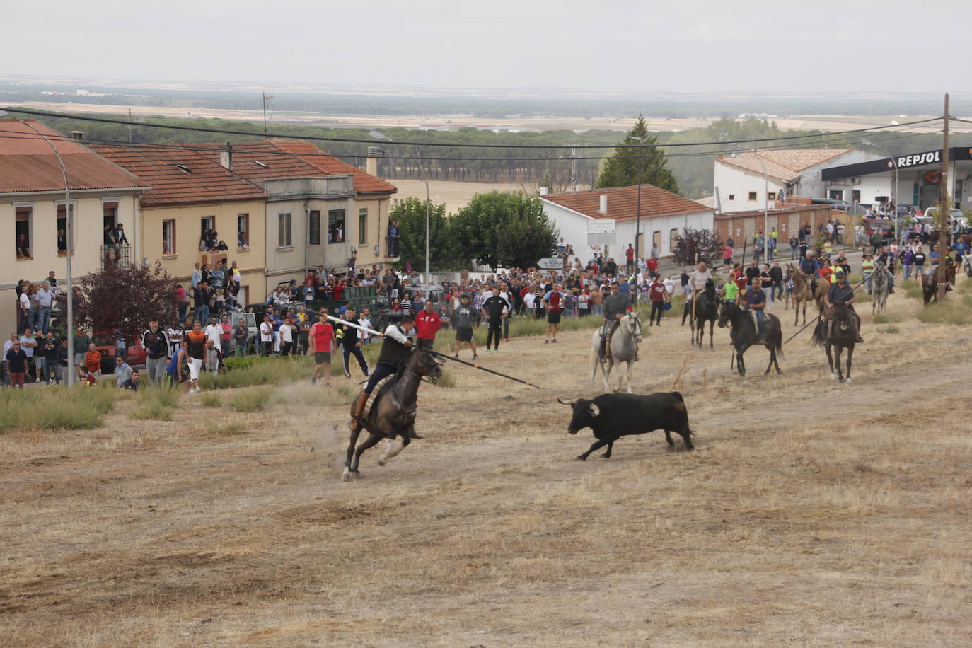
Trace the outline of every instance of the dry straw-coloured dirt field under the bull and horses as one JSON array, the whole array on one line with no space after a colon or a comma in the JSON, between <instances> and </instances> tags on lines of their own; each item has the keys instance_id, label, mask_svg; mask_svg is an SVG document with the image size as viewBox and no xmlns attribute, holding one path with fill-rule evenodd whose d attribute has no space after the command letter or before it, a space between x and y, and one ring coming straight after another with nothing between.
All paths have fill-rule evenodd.
<instances>
[{"instance_id":1,"label":"dry straw-coloured dirt field under the bull and horses","mask_svg":"<svg viewBox=\"0 0 972 648\"><path fill-rule=\"evenodd\" d=\"M582 331L484 357L543 390L452 367L454 388L420 392L425 438L384 467L365 454L347 484L344 407L184 396L172 423L120 408L103 429L9 433L3 643L967 646L972 430L945 369L972 331L918 308L892 295L902 322L876 325L860 306L850 385L807 333L782 375L760 349L744 379L727 331L693 350L674 319L653 328L635 388L687 368L694 452L655 432L573 459L593 439L556 397L603 391ZM245 433L213 432L227 421Z\"/></svg>"}]
</instances>

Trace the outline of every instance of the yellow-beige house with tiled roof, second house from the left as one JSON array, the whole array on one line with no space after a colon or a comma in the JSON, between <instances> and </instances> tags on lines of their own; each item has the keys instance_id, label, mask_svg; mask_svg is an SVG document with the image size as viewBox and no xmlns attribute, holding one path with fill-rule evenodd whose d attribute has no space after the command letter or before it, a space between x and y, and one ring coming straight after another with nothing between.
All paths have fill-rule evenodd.
<instances>
[{"instance_id":1,"label":"yellow-beige house with tiled roof, second house from the left","mask_svg":"<svg viewBox=\"0 0 972 648\"><path fill-rule=\"evenodd\" d=\"M91 148L152 186L139 201L144 260L158 260L170 276L185 283L196 263L226 258L240 268L240 301L263 299L266 191L196 150ZM199 250L202 233L213 229L226 242L226 252Z\"/></svg>"}]
</instances>

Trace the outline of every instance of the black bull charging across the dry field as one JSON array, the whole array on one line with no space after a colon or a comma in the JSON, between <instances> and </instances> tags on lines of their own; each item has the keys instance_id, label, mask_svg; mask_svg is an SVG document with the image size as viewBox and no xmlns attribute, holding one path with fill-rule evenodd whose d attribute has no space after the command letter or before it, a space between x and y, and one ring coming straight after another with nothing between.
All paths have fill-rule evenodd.
<instances>
[{"instance_id":1,"label":"black bull charging across the dry field","mask_svg":"<svg viewBox=\"0 0 972 648\"><path fill-rule=\"evenodd\" d=\"M603 446L608 446L603 455L610 459L610 451L614 442L629 434L644 434L656 429L665 430L665 440L670 447L675 447L671 432L677 432L685 449L692 450L692 430L688 426L688 411L685 401L679 392L655 392L649 394L638 393L602 393L592 400L573 398L565 400L558 398L557 402L573 407L571 425L567 431L576 434L584 427L590 427L594 432L595 441L587 452L577 457L586 460L587 457Z\"/></svg>"}]
</instances>

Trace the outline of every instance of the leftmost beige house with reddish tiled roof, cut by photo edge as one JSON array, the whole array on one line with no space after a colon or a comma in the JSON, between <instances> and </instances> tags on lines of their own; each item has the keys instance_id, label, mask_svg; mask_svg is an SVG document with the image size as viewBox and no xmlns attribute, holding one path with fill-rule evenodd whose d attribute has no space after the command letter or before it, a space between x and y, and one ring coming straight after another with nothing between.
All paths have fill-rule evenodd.
<instances>
[{"instance_id":1,"label":"leftmost beige house with reddish tiled roof, cut by photo edge","mask_svg":"<svg viewBox=\"0 0 972 648\"><path fill-rule=\"evenodd\" d=\"M52 270L63 282L67 274L62 232L68 208L54 149L64 162L70 188L74 277L101 268L106 225L123 223L130 244L124 254L142 254L138 197L147 184L35 119L0 119L0 127L17 133L0 138L0 240L13 248L0 254L0 330L6 337L17 328L17 282L42 281Z\"/></svg>"}]
</instances>

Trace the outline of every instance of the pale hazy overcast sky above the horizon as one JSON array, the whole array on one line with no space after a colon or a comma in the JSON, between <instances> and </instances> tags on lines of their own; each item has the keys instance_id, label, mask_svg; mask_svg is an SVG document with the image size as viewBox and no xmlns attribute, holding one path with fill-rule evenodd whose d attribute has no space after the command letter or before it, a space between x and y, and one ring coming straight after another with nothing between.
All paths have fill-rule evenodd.
<instances>
[{"instance_id":1,"label":"pale hazy overcast sky above the horizon","mask_svg":"<svg viewBox=\"0 0 972 648\"><path fill-rule=\"evenodd\" d=\"M0 15L18 25L4 72L171 81L959 91L972 41L968 0L4 0Z\"/></svg>"}]
</instances>

